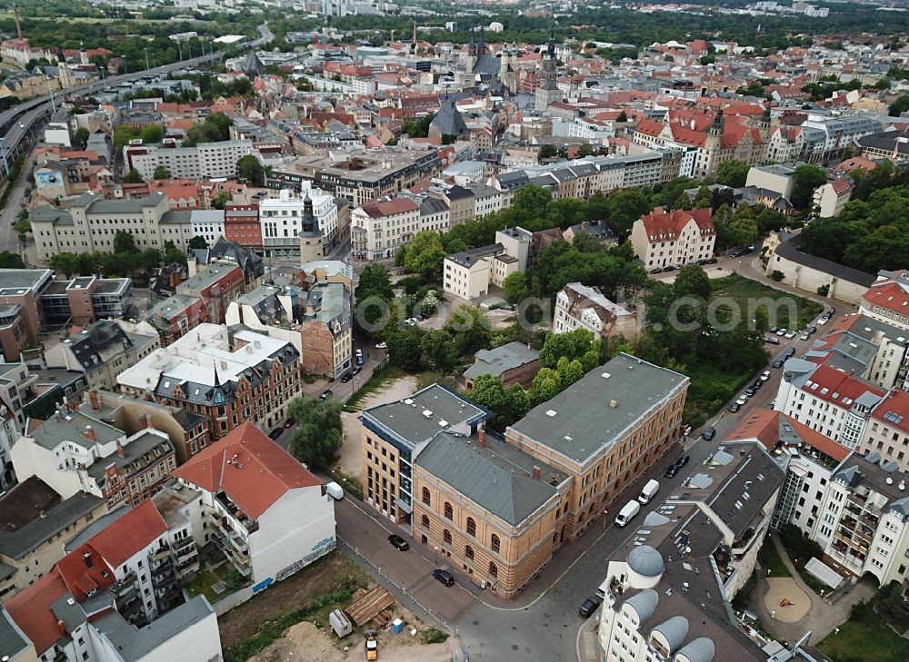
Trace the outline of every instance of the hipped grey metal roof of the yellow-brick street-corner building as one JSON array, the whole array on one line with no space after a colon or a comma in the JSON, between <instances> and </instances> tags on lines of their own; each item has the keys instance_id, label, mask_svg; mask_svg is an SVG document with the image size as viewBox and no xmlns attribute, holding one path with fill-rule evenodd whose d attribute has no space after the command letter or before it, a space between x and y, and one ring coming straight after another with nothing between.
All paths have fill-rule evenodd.
<instances>
[{"instance_id":1,"label":"hipped grey metal roof of the yellow-brick street-corner building","mask_svg":"<svg viewBox=\"0 0 909 662\"><path fill-rule=\"evenodd\" d=\"M557 486L567 478L564 472L504 441L487 435L484 444L439 432L415 464L514 526L556 496ZM541 469L538 479L533 477L534 467Z\"/></svg>"}]
</instances>

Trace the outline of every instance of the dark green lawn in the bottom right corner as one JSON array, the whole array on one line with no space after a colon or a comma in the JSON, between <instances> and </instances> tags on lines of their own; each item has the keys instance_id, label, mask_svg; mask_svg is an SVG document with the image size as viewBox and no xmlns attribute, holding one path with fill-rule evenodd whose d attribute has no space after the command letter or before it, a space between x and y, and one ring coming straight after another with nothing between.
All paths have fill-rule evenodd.
<instances>
[{"instance_id":1,"label":"dark green lawn in the bottom right corner","mask_svg":"<svg viewBox=\"0 0 909 662\"><path fill-rule=\"evenodd\" d=\"M849 618L827 635L818 648L834 662L906 662L903 637L897 635L871 608L858 618Z\"/></svg>"}]
</instances>

